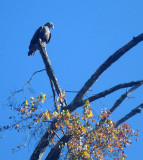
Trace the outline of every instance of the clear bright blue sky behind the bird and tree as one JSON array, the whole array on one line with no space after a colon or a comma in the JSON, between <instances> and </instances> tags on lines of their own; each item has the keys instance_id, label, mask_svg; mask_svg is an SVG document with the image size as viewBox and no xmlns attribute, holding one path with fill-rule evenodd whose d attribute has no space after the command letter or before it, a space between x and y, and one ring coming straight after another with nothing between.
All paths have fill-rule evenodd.
<instances>
[{"instance_id":1,"label":"clear bright blue sky behind the bird and tree","mask_svg":"<svg viewBox=\"0 0 143 160\"><path fill-rule=\"evenodd\" d=\"M6 107L10 92L21 89L35 71L44 68L39 52L33 57L27 55L30 39L40 25L48 21L54 23L47 52L61 88L79 90L108 56L143 32L143 1L1 0L0 17L0 125L4 125L12 113ZM119 83L142 80L142 61L143 43L140 43L100 77L91 94ZM31 85L36 95L41 92L52 95L44 72L37 74ZM95 111L109 109L125 91L102 98L92 107ZM133 98L126 99L112 115L113 120L119 120L142 103L142 93L140 87L131 95ZM66 96L70 102L74 95L67 93ZM142 160L142 119L143 113L127 122L133 129L140 129L139 141L125 150L128 160ZM23 143L21 137L26 134L16 131L0 133L0 159L27 160L36 140L15 154L11 153L12 148Z\"/></svg>"}]
</instances>

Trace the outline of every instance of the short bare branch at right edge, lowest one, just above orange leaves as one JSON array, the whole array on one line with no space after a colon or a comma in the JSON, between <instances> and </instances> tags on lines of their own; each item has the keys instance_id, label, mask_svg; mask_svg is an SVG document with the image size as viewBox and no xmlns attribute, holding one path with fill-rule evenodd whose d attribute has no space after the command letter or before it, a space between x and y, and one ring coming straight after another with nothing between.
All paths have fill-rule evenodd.
<instances>
[{"instance_id":1,"label":"short bare branch at right edge, lowest one, just above orange leaves","mask_svg":"<svg viewBox=\"0 0 143 160\"><path fill-rule=\"evenodd\" d=\"M130 113L128 113L125 117L121 118L119 121L117 121L116 126L118 127L121 123L124 123L125 121L127 121L129 118L133 117L134 115L136 115L137 113L141 113L141 110L143 109L143 103L140 104L138 107L136 107L135 109L131 110Z\"/></svg>"}]
</instances>

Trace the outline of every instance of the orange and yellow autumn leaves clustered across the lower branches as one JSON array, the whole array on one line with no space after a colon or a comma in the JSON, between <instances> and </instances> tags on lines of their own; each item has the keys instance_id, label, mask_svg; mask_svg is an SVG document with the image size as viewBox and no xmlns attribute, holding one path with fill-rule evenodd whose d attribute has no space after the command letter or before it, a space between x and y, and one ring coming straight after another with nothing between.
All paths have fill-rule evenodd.
<instances>
[{"instance_id":1,"label":"orange and yellow autumn leaves clustered across the lower branches","mask_svg":"<svg viewBox=\"0 0 143 160\"><path fill-rule=\"evenodd\" d=\"M30 121L27 128L30 130L35 125L47 125L56 119L57 131L52 131L56 132L56 136L51 140L51 146L54 146L64 135L70 137L68 142L61 145L63 148L61 156L66 156L70 160L79 158L103 160L108 156L114 160L124 160L126 158L124 148L131 144L130 137L138 136L138 133L132 130L128 124L116 127L116 123L109 119L110 112L108 110L101 111L100 118L95 118L89 100L84 104L82 113L71 114L68 110L61 111L64 97L65 92L61 91L56 101L55 111L40 110L40 105L46 100L45 94L41 93L39 97L25 100L15 108L20 116L20 121L11 126L4 126L1 130L15 128L19 132L21 122L28 119ZM13 109L12 104L10 107ZM21 146L18 145L17 148L21 148Z\"/></svg>"}]
</instances>

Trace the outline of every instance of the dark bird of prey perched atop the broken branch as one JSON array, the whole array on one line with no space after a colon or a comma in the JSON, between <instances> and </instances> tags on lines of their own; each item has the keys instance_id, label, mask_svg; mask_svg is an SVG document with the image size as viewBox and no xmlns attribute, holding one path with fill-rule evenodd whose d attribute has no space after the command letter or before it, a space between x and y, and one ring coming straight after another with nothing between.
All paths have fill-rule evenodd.
<instances>
[{"instance_id":1,"label":"dark bird of prey perched atop the broken branch","mask_svg":"<svg viewBox=\"0 0 143 160\"><path fill-rule=\"evenodd\" d=\"M39 50L39 41L46 46L47 43L50 42L51 39L51 32L50 28L54 29L54 25L52 22L46 23L44 26L40 26L35 34L33 35L30 45L29 45L29 52L28 56L33 56L37 50Z\"/></svg>"}]
</instances>

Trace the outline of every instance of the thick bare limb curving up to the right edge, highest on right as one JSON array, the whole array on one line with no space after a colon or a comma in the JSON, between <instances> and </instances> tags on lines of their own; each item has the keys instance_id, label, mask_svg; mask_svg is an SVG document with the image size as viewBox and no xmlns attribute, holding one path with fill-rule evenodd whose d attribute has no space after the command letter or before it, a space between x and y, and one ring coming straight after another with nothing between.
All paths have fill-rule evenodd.
<instances>
[{"instance_id":1,"label":"thick bare limb curving up to the right edge, highest on right","mask_svg":"<svg viewBox=\"0 0 143 160\"><path fill-rule=\"evenodd\" d=\"M90 79L84 84L81 90L77 93L72 103L81 101L85 96L87 91L92 87L92 85L98 80L98 78L102 75L102 73L109 68L114 62L116 62L121 56L123 56L127 51L136 46L139 42L143 40L143 33L137 37L134 37L129 43L120 48L114 54L112 54L91 76Z\"/></svg>"}]
</instances>

